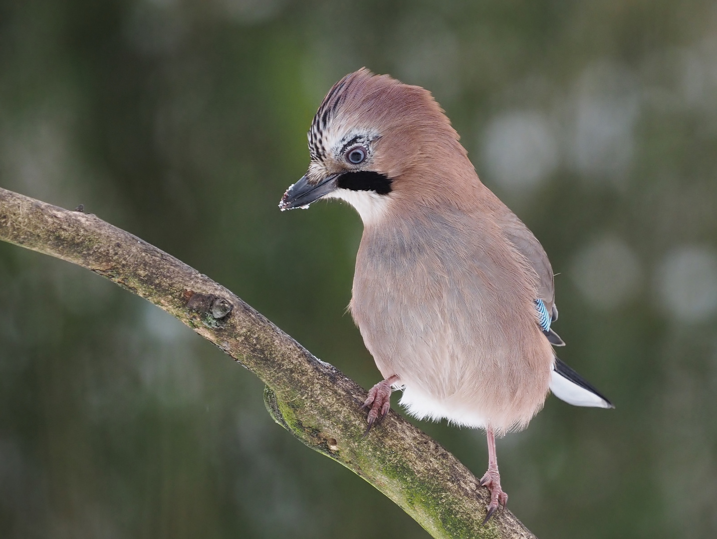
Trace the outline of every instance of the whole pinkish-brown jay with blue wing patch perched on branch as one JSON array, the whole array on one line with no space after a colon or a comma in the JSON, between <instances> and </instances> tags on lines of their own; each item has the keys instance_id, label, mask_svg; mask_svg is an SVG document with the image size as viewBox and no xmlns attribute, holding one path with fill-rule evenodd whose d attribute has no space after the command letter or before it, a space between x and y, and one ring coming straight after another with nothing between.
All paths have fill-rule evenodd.
<instances>
[{"instance_id":1,"label":"whole pinkish-brown jay with blue wing patch perched on branch","mask_svg":"<svg viewBox=\"0 0 717 539\"><path fill-rule=\"evenodd\" d=\"M549 392L614 408L559 360L554 274L538 239L478 178L431 92L365 67L336 82L308 131L308 171L280 209L351 204L364 224L349 310L383 380L417 419L484 429L490 491L483 523L508 495L495 437L525 428Z\"/></svg>"}]
</instances>

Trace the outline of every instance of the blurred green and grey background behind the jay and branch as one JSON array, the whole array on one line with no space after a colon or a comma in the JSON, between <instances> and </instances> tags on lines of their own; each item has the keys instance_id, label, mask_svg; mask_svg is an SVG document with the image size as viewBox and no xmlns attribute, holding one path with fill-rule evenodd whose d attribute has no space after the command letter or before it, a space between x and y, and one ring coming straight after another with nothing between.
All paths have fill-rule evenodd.
<instances>
[{"instance_id":1,"label":"blurred green and grey background behind the jay and branch","mask_svg":"<svg viewBox=\"0 0 717 539\"><path fill-rule=\"evenodd\" d=\"M85 204L368 388L359 217L277 209L364 65L434 92L559 273L561 358L617 405L551 397L500 439L511 510L541 538L715 537L713 1L1 0L0 186ZM485 471L483 433L421 426ZM0 537L427 533L191 330L0 244Z\"/></svg>"}]
</instances>

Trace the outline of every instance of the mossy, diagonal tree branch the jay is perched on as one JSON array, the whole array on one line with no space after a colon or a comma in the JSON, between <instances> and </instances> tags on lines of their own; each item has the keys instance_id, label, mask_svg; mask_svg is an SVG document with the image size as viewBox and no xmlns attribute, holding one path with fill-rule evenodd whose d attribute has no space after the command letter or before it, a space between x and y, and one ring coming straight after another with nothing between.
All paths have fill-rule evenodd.
<instances>
[{"instance_id":1,"label":"mossy, diagonal tree branch the jay is perched on","mask_svg":"<svg viewBox=\"0 0 717 539\"><path fill-rule=\"evenodd\" d=\"M505 510L481 527L488 490L391 411L363 438L366 391L178 259L92 214L0 189L0 239L86 267L158 305L255 373L274 420L363 477L435 538L533 538Z\"/></svg>"}]
</instances>

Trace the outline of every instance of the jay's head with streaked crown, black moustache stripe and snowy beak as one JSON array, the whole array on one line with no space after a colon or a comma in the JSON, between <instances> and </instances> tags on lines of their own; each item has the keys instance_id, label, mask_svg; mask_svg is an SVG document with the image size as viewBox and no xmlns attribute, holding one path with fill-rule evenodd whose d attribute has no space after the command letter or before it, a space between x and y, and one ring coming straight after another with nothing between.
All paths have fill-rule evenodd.
<instances>
[{"instance_id":1,"label":"jay's head with streaked crown, black moustache stripe and snowy beak","mask_svg":"<svg viewBox=\"0 0 717 539\"><path fill-rule=\"evenodd\" d=\"M308 171L285 192L280 209L343 199L366 225L380 221L402 196L426 199L445 191L442 163L456 157L467 161L430 92L365 68L329 90L308 143Z\"/></svg>"}]
</instances>

